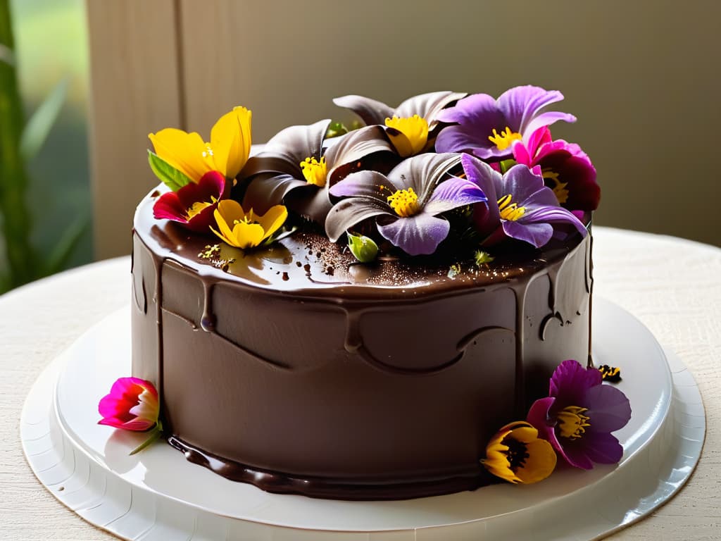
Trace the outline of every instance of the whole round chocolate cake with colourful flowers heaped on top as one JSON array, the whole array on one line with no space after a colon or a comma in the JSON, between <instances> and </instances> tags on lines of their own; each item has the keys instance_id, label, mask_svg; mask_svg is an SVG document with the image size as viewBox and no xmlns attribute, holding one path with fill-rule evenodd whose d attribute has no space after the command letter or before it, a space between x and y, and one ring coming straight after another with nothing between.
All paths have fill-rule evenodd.
<instances>
[{"instance_id":1,"label":"whole round chocolate cake with colourful flowers heaped on top","mask_svg":"<svg viewBox=\"0 0 721 541\"><path fill-rule=\"evenodd\" d=\"M211 143L151 134L164 185L133 223L128 382L151 394L131 429L319 498L547 477L558 447L518 421L562 361L590 365L596 172L550 136L575 120L541 113L559 92L465 96L340 98L365 127L291 126L254 157L242 107ZM573 408L544 415L578 439Z\"/></svg>"}]
</instances>

